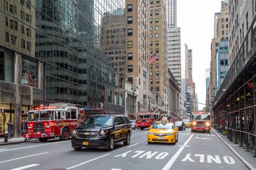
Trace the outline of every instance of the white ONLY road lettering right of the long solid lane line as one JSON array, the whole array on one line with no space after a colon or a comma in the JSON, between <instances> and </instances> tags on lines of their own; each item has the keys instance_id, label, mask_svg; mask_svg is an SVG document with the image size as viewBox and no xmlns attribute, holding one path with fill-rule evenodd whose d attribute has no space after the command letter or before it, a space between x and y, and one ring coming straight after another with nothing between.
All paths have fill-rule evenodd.
<instances>
[{"instance_id":1,"label":"white ONLY road lettering right of the long solid lane line","mask_svg":"<svg viewBox=\"0 0 256 170\"><path fill-rule=\"evenodd\" d=\"M200 158L199 162L203 162L204 163L204 154L195 154L195 158L190 158L190 153L188 153L186 155L186 157L184 159L182 159L181 161L191 161L191 162L195 162L194 159ZM207 155L207 163L212 163L213 161L217 164L222 164L220 156L215 155L215 157L211 156L211 155ZM223 156L223 160L226 164L235 164L235 160L231 157L231 156Z\"/></svg>"}]
</instances>

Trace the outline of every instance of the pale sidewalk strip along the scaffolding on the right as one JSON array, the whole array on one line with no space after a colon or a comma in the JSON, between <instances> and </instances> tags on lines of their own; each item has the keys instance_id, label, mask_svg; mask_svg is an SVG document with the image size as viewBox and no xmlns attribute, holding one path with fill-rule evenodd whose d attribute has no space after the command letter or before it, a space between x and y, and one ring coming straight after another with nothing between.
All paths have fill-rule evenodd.
<instances>
[{"instance_id":1,"label":"pale sidewalk strip along the scaffolding on the right","mask_svg":"<svg viewBox=\"0 0 256 170\"><path fill-rule=\"evenodd\" d=\"M229 139L227 139L226 135L222 135L221 133L218 133L216 129L212 129L212 131L224 142L227 147L230 148L230 150L235 153L235 155L250 169L250 170L256 170L256 158L253 157L255 153L253 151L244 151L243 147L239 147L238 144L234 144L233 142L230 142Z\"/></svg>"}]
</instances>

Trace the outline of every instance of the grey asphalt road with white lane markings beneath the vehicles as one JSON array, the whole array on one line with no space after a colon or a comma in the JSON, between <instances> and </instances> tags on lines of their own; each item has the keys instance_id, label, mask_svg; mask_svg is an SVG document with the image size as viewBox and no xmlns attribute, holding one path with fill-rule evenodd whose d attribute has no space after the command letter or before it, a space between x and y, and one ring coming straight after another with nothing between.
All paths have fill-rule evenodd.
<instances>
[{"instance_id":1,"label":"grey asphalt road with white lane markings beneath the vehicles","mask_svg":"<svg viewBox=\"0 0 256 170\"><path fill-rule=\"evenodd\" d=\"M179 131L174 144L148 144L145 130L133 130L128 146L111 152L83 148L69 141L28 142L0 146L1 170L247 170L247 167L211 133Z\"/></svg>"}]
</instances>

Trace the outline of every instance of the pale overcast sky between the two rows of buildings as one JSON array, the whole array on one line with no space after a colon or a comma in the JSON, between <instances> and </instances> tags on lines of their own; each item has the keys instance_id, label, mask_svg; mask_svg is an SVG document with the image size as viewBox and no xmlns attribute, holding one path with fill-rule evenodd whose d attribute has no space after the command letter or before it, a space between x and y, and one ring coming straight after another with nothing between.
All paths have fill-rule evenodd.
<instances>
[{"instance_id":1,"label":"pale overcast sky between the two rows of buildings","mask_svg":"<svg viewBox=\"0 0 256 170\"><path fill-rule=\"evenodd\" d=\"M221 0L177 0L177 27L184 43L193 51L193 81L198 102L205 103L206 74L210 68L214 13L221 11ZM198 105L201 110L205 105Z\"/></svg>"}]
</instances>

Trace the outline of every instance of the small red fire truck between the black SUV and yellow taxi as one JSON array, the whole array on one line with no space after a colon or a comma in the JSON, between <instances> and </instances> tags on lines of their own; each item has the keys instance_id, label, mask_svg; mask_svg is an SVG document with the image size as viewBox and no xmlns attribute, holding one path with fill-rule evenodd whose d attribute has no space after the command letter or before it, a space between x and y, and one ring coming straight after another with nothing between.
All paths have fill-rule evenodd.
<instances>
[{"instance_id":1,"label":"small red fire truck between the black SUV and yellow taxi","mask_svg":"<svg viewBox=\"0 0 256 170\"><path fill-rule=\"evenodd\" d=\"M140 127L140 130L144 130L150 127L153 122L159 121L159 113L154 113L154 111L142 111L137 114L136 127Z\"/></svg>"}]
</instances>

